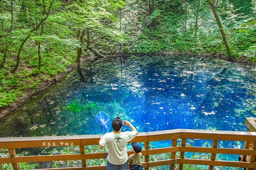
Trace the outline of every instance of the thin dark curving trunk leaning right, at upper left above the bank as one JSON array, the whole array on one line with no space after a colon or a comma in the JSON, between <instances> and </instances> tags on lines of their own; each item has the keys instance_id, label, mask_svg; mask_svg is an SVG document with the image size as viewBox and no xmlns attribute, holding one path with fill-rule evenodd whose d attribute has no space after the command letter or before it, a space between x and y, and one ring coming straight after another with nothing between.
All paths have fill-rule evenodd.
<instances>
[{"instance_id":1,"label":"thin dark curving trunk leaning right, at upper left above the bank","mask_svg":"<svg viewBox=\"0 0 256 170\"><path fill-rule=\"evenodd\" d=\"M40 21L40 23L38 24L38 26L36 28L33 28L32 30L29 31L29 35L21 42L20 44L20 48L19 48L19 51L18 51L18 54L17 54L17 62L16 62L16 65L15 65L15 68L12 70L12 73L14 73L17 68L19 67L19 64L20 64L20 53L21 53L21 50L23 48L23 45L26 43L26 41L31 37L32 33L36 30L38 30L38 28L43 24L43 22L45 20L47 20L47 18L49 17L49 14L50 14L50 10L52 8L52 5L53 5L53 2L54 0L52 0L52 2L50 3L50 6L49 6L49 9L48 9L48 12L47 12L47 15L43 18L43 20Z\"/></svg>"}]
</instances>

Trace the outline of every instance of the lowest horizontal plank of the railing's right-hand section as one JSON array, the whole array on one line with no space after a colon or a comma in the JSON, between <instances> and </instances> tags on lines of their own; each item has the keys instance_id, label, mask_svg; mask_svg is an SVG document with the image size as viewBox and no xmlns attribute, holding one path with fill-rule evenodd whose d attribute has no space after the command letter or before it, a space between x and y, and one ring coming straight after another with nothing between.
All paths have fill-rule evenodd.
<instances>
[{"instance_id":1,"label":"lowest horizontal plank of the railing's right-hand section","mask_svg":"<svg viewBox=\"0 0 256 170\"><path fill-rule=\"evenodd\" d=\"M198 164L198 165L212 165L212 166L224 166L224 167L256 167L256 163L239 162L239 161L211 161L204 159L176 159L180 164Z\"/></svg>"}]
</instances>

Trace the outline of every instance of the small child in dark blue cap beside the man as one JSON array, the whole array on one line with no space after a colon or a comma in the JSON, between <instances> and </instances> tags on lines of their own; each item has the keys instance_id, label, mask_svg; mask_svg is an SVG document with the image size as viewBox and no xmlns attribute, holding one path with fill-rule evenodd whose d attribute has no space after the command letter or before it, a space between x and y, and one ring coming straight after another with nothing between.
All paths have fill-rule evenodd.
<instances>
[{"instance_id":1,"label":"small child in dark blue cap beside the man","mask_svg":"<svg viewBox=\"0 0 256 170\"><path fill-rule=\"evenodd\" d=\"M134 152L129 156L128 164L130 165L130 170L142 170L142 153L141 146L136 142L131 143L132 151Z\"/></svg>"}]
</instances>

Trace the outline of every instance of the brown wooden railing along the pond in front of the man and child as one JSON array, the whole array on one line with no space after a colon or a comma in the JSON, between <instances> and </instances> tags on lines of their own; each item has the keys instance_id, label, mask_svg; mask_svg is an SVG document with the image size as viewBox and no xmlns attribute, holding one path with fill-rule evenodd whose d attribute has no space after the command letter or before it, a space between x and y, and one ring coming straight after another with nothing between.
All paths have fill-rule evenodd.
<instances>
[{"instance_id":1,"label":"brown wooden railing along the pond in front of the man and child","mask_svg":"<svg viewBox=\"0 0 256 170\"><path fill-rule=\"evenodd\" d=\"M104 153L86 153L84 146L99 144L101 135L84 135L84 136L43 136L43 137L17 137L17 138L0 138L0 148L8 149L10 157L0 158L0 164L10 163L14 170L19 170L21 162L44 162L44 161L65 161L65 160L81 160L82 167L57 168L51 170L105 170L105 166L87 166L89 159L104 159ZM178 144L178 140L181 143ZM207 139L212 140L212 147L193 147L186 146L186 139ZM149 148L150 142L172 140L170 147L165 148ZM253 147L250 149L233 149L219 148L219 141L242 141L250 142ZM176 129L157 132L139 133L133 139L136 142L144 143L143 167L148 170L149 167L169 165L170 170L175 169L175 164L179 165L179 170L183 169L183 164L208 165L209 170L213 170L214 166L227 167L246 167L247 170L253 170L256 167L256 132L235 132L235 131L214 131L214 130L188 130ZM132 142L132 141L131 141ZM39 156L16 156L15 149L31 148L31 147L67 147L79 146L79 154L69 155L39 155ZM209 153L210 159L189 159L184 157L185 153ZM149 156L155 154L171 153L170 159L150 161ZM179 154L176 154L179 153ZM250 157L250 162L241 161L224 161L215 160L216 154L238 154ZM131 154L131 151L128 151ZM179 156L178 156L179 155ZM44 169L46 170L46 169Z\"/></svg>"}]
</instances>

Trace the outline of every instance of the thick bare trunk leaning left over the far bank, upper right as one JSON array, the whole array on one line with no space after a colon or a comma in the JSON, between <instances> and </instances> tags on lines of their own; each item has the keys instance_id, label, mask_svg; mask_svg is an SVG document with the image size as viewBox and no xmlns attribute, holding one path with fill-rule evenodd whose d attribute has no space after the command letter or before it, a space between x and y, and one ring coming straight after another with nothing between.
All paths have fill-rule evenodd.
<instances>
[{"instance_id":1,"label":"thick bare trunk leaning left over the far bank, upper right","mask_svg":"<svg viewBox=\"0 0 256 170\"><path fill-rule=\"evenodd\" d=\"M217 13L217 10L216 10L216 5L215 3L212 3L211 0L207 0L209 5L211 6L212 8L212 12L214 14L214 17L216 19L216 22L217 22L217 25L218 25L218 28L220 29L221 31L221 36L222 36L222 39L223 39L223 42L224 42L224 45L225 45L225 48L226 48L226 51L227 51L227 57L232 60L232 54L231 54L231 51L230 51L230 47L228 45L228 42L227 42L227 37L226 37L226 33L224 31L224 28L221 24L221 20L220 20L220 17L218 16L218 13Z\"/></svg>"}]
</instances>

